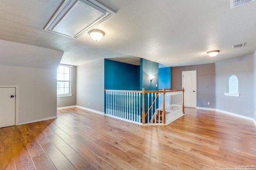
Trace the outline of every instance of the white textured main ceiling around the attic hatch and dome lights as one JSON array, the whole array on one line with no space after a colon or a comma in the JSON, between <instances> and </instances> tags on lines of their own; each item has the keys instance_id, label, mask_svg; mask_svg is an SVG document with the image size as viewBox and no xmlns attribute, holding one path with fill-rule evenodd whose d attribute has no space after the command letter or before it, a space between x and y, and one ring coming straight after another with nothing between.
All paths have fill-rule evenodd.
<instances>
[{"instance_id":1,"label":"white textured main ceiling around the attic hatch and dome lights","mask_svg":"<svg viewBox=\"0 0 256 170\"><path fill-rule=\"evenodd\" d=\"M164 66L215 63L256 49L256 1L230 8L230 0L98 0L116 14L100 23L100 41L77 39L44 27L63 0L1 0L0 39L63 51L62 64L99 59ZM232 45L246 43L232 49ZM0 47L1 48L1 47ZM220 50L216 57L207 51Z\"/></svg>"}]
</instances>

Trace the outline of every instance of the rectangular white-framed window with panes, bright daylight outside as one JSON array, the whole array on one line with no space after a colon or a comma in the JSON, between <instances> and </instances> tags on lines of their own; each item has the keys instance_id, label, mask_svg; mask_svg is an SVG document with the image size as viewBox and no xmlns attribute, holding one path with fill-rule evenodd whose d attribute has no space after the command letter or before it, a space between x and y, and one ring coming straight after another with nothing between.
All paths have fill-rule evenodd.
<instances>
[{"instance_id":1,"label":"rectangular white-framed window with panes, bright daylight outside","mask_svg":"<svg viewBox=\"0 0 256 170\"><path fill-rule=\"evenodd\" d=\"M72 96L71 94L71 73L72 66L62 65L58 66L57 70L57 97Z\"/></svg>"}]
</instances>

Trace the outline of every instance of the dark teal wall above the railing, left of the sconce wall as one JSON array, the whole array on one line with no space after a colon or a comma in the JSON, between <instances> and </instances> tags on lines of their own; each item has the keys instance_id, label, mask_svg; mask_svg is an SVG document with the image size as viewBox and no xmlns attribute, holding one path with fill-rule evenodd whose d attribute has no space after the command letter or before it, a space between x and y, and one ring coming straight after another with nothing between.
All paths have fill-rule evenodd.
<instances>
[{"instance_id":1,"label":"dark teal wall above the railing, left of the sconce wall","mask_svg":"<svg viewBox=\"0 0 256 170\"><path fill-rule=\"evenodd\" d=\"M140 90L138 67L104 59L104 88L108 90Z\"/></svg>"}]
</instances>

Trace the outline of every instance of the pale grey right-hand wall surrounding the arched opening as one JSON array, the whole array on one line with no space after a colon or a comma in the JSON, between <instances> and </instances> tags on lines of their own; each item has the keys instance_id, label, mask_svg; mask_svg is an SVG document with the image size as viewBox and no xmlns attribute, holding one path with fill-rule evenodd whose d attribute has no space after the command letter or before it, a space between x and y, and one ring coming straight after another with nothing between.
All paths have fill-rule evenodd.
<instances>
[{"instance_id":1,"label":"pale grey right-hand wall surrounding the arched opening","mask_svg":"<svg viewBox=\"0 0 256 170\"><path fill-rule=\"evenodd\" d=\"M221 61L216 66L216 109L254 117L254 67L253 54ZM238 78L240 97L225 96L226 77L235 74Z\"/></svg>"}]
</instances>

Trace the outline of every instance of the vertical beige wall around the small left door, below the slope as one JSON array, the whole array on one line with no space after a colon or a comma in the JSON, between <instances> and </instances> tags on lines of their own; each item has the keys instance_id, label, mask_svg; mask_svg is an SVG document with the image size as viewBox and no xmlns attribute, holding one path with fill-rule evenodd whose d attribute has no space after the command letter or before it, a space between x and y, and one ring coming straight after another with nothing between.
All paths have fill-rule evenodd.
<instances>
[{"instance_id":1,"label":"vertical beige wall around the small left door, below the slope","mask_svg":"<svg viewBox=\"0 0 256 170\"><path fill-rule=\"evenodd\" d=\"M18 86L18 123L56 116L56 70L0 65L0 85Z\"/></svg>"}]
</instances>

